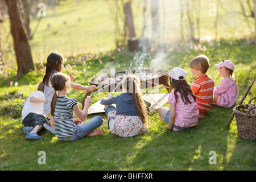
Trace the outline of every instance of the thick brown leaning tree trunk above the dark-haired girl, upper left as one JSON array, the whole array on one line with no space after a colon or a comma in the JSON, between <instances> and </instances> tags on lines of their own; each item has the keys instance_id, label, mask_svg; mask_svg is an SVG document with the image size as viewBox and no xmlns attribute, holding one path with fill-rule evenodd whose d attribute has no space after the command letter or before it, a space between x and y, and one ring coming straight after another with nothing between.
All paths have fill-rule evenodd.
<instances>
[{"instance_id":1,"label":"thick brown leaning tree trunk above the dark-haired girl, upper left","mask_svg":"<svg viewBox=\"0 0 256 182\"><path fill-rule=\"evenodd\" d=\"M14 50L18 65L17 77L23 73L28 73L35 69L26 26L24 25L24 20L22 19L22 14L20 13L20 3L20 0L6 0L6 5L8 7L10 16L11 34L13 35Z\"/></svg>"}]
</instances>

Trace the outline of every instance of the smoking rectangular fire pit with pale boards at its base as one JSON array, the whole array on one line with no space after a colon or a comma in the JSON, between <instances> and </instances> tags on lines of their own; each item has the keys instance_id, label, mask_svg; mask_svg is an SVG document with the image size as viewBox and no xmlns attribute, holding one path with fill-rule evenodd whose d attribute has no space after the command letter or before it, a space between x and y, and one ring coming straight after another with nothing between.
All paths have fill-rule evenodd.
<instances>
[{"instance_id":1,"label":"smoking rectangular fire pit with pale boards at its base","mask_svg":"<svg viewBox=\"0 0 256 182\"><path fill-rule=\"evenodd\" d=\"M110 74L101 73L100 75L92 78L92 80L89 81L90 85L96 85L97 90L94 90L93 94L96 94L97 92L122 92L122 80L125 78L125 76L129 74L134 74L135 76L139 77L141 80L142 88L151 88L157 85L163 85L168 93L170 92L170 85L169 85L169 77L168 70L166 69L137 69L137 70L131 70L131 71L122 71L122 72L114 72L112 73L110 71ZM142 90L143 91L143 90ZM144 96L146 96L146 100L152 100L153 103L150 107L152 107L150 110L154 110L160 104L164 104L167 100L168 93L158 93L158 94L147 94L143 91ZM91 97L93 96L91 92L87 92L85 94L84 100L87 96ZM154 98L153 98L154 97ZM166 99L164 99L166 98ZM157 100L157 102L156 102ZM82 109L84 108L84 101L82 101ZM97 101L93 106L89 107L89 113L97 113L97 112L103 112L104 107L102 108L102 105L100 104L100 101Z\"/></svg>"}]
</instances>

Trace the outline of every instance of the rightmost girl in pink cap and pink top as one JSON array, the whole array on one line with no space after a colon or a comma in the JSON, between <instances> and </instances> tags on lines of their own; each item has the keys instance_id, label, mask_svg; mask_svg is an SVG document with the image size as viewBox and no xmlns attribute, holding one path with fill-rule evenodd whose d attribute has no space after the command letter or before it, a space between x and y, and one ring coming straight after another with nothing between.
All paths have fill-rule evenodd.
<instances>
[{"instance_id":1,"label":"rightmost girl in pink cap and pink top","mask_svg":"<svg viewBox=\"0 0 256 182\"><path fill-rule=\"evenodd\" d=\"M224 78L214 88L213 104L219 107L232 107L236 104L238 97L238 87L232 77L234 64L232 61L223 60L215 66L219 67L220 76Z\"/></svg>"}]
</instances>

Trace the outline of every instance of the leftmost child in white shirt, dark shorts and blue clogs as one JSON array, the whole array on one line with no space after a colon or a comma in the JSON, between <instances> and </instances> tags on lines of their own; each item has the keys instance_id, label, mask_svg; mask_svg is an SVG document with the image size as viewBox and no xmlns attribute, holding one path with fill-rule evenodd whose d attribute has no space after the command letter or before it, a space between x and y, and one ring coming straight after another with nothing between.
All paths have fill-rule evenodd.
<instances>
[{"instance_id":1,"label":"leftmost child in white shirt, dark shorts and blue clogs","mask_svg":"<svg viewBox=\"0 0 256 182\"><path fill-rule=\"evenodd\" d=\"M44 123L48 123L48 119L43 115L43 105L44 83L41 81L38 89L28 96L22 109L22 125L26 139L42 139L37 133L42 130Z\"/></svg>"}]
</instances>

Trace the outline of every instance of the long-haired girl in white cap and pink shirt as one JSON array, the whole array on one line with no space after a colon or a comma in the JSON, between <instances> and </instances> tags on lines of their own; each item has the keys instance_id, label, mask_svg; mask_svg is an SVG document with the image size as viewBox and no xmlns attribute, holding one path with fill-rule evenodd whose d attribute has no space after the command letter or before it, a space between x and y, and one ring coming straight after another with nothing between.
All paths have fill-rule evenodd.
<instances>
[{"instance_id":1,"label":"long-haired girl in white cap and pink shirt","mask_svg":"<svg viewBox=\"0 0 256 182\"><path fill-rule=\"evenodd\" d=\"M174 68L169 73L171 93L168 97L170 109L159 108L160 119L166 123L167 129L174 131L186 130L195 126L198 121L199 110L196 105L196 96L185 81L187 73L181 68Z\"/></svg>"}]
</instances>

